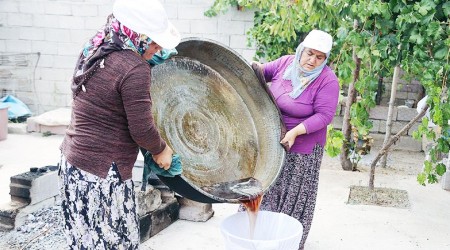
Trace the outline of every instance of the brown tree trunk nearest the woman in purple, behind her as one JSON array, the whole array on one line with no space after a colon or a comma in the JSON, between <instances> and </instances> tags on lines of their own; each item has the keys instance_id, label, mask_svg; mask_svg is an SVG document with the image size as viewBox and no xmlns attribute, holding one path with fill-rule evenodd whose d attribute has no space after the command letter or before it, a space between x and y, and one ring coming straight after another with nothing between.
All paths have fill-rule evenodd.
<instances>
[{"instance_id":1,"label":"brown tree trunk nearest the woman in purple, behind her","mask_svg":"<svg viewBox=\"0 0 450 250\"><path fill-rule=\"evenodd\" d=\"M355 20L353 22L353 28L356 29L358 27L358 21ZM353 71L353 81L348 86L348 93L347 93L347 102L345 103L345 110L344 110L344 118L342 122L342 133L344 134L344 141L349 142L352 138L352 126L350 124L350 108L352 107L352 104L356 100L356 89L355 89L355 83L359 78L359 70L361 68L361 59L359 59L356 56L356 49L353 48L353 60L355 61L355 70ZM341 166L342 169L347 171L353 171L353 164L350 161L349 157L349 145L348 143L344 143L342 145L341 154L339 155L339 159L341 160Z\"/></svg>"}]
</instances>

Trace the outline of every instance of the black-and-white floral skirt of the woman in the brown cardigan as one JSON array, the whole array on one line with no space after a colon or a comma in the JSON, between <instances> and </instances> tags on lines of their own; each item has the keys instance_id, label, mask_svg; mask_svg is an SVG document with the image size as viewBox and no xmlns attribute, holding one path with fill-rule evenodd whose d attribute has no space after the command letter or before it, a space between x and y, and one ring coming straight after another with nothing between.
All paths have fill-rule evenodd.
<instances>
[{"instance_id":1,"label":"black-and-white floral skirt of the woman in the brown cardigan","mask_svg":"<svg viewBox=\"0 0 450 250\"><path fill-rule=\"evenodd\" d=\"M60 193L70 249L138 249L139 220L133 181L113 163L106 179L61 156Z\"/></svg>"}]
</instances>

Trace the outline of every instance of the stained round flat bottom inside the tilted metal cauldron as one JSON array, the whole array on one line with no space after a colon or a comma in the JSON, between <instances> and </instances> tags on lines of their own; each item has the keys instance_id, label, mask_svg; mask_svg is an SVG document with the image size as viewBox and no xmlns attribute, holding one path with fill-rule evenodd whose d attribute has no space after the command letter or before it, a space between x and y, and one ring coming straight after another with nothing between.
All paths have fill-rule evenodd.
<instances>
[{"instance_id":1,"label":"stained round flat bottom inside the tilted metal cauldron","mask_svg":"<svg viewBox=\"0 0 450 250\"><path fill-rule=\"evenodd\" d=\"M157 98L164 99L154 101L155 122L174 151L184 153L183 174L207 185L224 176L228 181L251 176L253 169L247 166L257 161L256 128L235 89L196 61L169 61L158 67L158 77L168 77L152 85Z\"/></svg>"}]
</instances>

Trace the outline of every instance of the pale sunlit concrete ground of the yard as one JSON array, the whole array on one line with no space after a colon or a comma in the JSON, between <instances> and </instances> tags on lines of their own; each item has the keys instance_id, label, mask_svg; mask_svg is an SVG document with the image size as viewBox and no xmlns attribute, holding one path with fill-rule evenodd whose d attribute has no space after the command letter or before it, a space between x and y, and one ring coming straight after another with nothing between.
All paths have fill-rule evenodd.
<instances>
[{"instance_id":1,"label":"pale sunlit concrete ground of the yard","mask_svg":"<svg viewBox=\"0 0 450 250\"><path fill-rule=\"evenodd\" d=\"M30 167L55 165L62 136L40 133L9 134L0 141L0 206L9 202L9 177ZM407 209L349 205L349 187L366 185L368 169L359 172L340 168L336 158L324 157L313 225L305 249L450 249L450 192L440 184L420 186L423 153L394 152L390 168L377 169L375 185L406 190ZM213 204L207 222L178 220L141 245L147 250L225 249L220 223L237 210L236 204ZM1 241L1 237L0 237Z\"/></svg>"}]
</instances>

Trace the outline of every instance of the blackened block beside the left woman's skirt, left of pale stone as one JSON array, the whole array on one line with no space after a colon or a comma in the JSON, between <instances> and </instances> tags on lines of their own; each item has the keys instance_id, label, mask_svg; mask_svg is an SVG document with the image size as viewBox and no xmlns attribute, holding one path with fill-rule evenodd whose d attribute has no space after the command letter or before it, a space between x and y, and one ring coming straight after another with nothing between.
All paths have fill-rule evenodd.
<instances>
[{"instance_id":1,"label":"blackened block beside the left woman's skirt, left of pale stone","mask_svg":"<svg viewBox=\"0 0 450 250\"><path fill-rule=\"evenodd\" d=\"M152 213L139 218L141 242L144 242L178 220L180 205L177 199L169 199Z\"/></svg>"}]
</instances>

